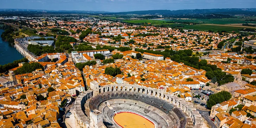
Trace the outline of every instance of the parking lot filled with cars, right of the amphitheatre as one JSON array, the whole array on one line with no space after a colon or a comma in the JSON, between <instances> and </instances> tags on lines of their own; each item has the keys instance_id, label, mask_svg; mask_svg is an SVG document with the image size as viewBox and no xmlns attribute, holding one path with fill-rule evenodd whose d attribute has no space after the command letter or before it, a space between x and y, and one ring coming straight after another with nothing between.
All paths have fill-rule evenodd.
<instances>
[{"instance_id":1,"label":"parking lot filled with cars, right of the amphitheatre","mask_svg":"<svg viewBox=\"0 0 256 128\"><path fill-rule=\"evenodd\" d=\"M204 91L204 92L203 92ZM207 90L191 90L192 93L192 103L194 103L194 105L196 105L197 107L200 108L206 108L206 101L209 100L209 95L214 94L214 92L210 92ZM208 94L207 94L208 93ZM199 98L195 97L196 95L199 95Z\"/></svg>"}]
</instances>

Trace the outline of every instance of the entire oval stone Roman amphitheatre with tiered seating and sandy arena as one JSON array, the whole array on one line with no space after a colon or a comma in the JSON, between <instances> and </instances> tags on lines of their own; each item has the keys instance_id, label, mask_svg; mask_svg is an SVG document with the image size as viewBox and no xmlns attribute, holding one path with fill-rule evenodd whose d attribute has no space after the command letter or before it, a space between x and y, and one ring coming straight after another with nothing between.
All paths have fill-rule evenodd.
<instances>
[{"instance_id":1,"label":"entire oval stone Roman amphitheatre with tiered seating and sandy arena","mask_svg":"<svg viewBox=\"0 0 256 128\"><path fill-rule=\"evenodd\" d=\"M201 128L192 103L166 92L131 84L100 87L96 81L75 102L79 128Z\"/></svg>"}]
</instances>

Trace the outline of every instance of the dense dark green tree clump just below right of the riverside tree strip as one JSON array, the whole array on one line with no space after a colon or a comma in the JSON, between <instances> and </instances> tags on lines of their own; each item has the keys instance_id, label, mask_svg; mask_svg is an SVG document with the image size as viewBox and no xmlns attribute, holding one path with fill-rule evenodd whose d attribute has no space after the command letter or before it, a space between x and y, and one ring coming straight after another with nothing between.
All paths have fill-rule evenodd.
<instances>
[{"instance_id":1,"label":"dense dark green tree clump just below right of the riverside tree strip","mask_svg":"<svg viewBox=\"0 0 256 128\"><path fill-rule=\"evenodd\" d=\"M15 70L14 74L18 75L18 74L24 74L24 73L31 73L32 71L35 71L36 69L44 70L44 67L37 62L33 62L33 63L26 62L23 64L23 66L21 68L18 68L17 70Z\"/></svg>"}]
</instances>

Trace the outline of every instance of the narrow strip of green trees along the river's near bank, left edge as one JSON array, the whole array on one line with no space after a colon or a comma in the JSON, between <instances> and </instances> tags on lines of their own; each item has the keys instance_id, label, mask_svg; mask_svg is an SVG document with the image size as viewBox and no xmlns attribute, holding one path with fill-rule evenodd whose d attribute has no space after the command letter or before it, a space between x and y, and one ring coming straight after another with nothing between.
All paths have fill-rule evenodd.
<instances>
[{"instance_id":1,"label":"narrow strip of green trees along the river's near bank, left edge","mask_svg":"<svg viewBox=\"0 0 256 128\"><path fill-rule=\"evenodd\" d=\"M22 58L22 59L19 59L19 60L14 60L13 63L0 65L0 73L6 72L10 69L18 67L19 63L21 63L21 62L28 62L28 59L27 58Z\"/></svg>"}]
</instances>

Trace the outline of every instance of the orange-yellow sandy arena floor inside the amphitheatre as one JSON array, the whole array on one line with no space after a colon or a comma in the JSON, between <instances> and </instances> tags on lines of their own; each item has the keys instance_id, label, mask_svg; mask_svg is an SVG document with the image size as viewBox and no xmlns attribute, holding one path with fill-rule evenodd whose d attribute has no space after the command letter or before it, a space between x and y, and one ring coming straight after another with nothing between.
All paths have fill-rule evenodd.
<instances>
[{"instance_id":1,"label":"orange-yellow sandy arena floor inside the amphitheatre","mask_svg":"<svg viewBox=\"0 0 256 128\"><path fill-rule=\"evenodd\" d=\"M123 128L154 128L155 125L146 118L129 112L117 113L114 120Z\"/></svg>"}]
</instances>

